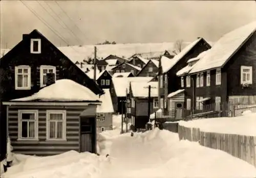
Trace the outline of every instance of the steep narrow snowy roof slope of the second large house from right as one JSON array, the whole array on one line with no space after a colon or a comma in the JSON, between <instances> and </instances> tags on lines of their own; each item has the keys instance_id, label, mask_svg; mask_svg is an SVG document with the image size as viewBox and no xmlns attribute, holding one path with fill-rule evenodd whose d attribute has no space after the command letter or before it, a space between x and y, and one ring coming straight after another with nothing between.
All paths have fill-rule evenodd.
<instances>
[{"instance_id":1,"label":"steep narrow snowy roof slope of the second large house from right","mask_svg":"<svg viewBox=\"0 0 256 178\"><path fill-rule=\"evenodd\" d=\"M173 59L169 60L166 64L166 67L163 69L163 73L169 71L181 58L183 58L191 48L193 48L202 38L198 38L197 40L188 44L181 52L176 55ZM161 61L162 62L162 61Z\"/></svg>"}]
</instances>

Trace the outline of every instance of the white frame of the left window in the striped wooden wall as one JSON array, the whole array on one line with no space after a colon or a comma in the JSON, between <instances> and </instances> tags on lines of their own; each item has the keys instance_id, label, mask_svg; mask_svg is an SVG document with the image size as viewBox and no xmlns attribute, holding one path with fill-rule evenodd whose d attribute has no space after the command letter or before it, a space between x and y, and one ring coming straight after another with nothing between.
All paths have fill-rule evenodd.
<instances>
[{"instance_id":1,"label":"white frame of the left window in the striped wooden wall","mask_svg":"<svg viewBox=\"0 0 256 178\"><path fill-rule=\"evenodd\" d=\"M34 138L22 137L22 121L23 121L22 114L23 113L35 115L35 137ZM38 110L18 110L18 140L38 140Z\"/></svg>"}]
</instances>

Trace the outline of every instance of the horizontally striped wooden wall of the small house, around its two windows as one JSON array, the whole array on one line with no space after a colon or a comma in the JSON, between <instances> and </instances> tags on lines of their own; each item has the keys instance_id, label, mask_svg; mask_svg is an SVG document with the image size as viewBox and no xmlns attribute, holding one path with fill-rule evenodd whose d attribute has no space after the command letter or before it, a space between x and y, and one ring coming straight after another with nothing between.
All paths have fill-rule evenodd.
<instances>
[{"instance_id":1,"label":"horizontally striped wooden wall of the small house, around its two windows","mask_svg":"<svg viewBox=\"0 0 256 178\"><path fill-rule=\"evenodd\" d=\"M8 106L8 131L13 146L13 152L25 155L50 156L69 150L79 151L80 114L89 106ZM38 110L38 141L19 141L18 110ZM46 140L46 110L67 111L67 141ZM88 113L89 114L89 113ZM94 114L94 113L92 113ZM96 114L96 113L95 113Z\"/></svg>"}]
</instances>

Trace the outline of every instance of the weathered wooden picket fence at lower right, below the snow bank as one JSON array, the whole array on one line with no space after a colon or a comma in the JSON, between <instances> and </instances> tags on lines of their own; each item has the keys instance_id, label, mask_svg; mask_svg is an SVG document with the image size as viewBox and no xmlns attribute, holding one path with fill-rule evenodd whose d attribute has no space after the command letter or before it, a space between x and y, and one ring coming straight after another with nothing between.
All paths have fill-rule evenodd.
<instances>
[{"instance_id":1,"label":"weathered wooden picket fence at lower right, below the snow bank","mask_svg":"<svg viewBox=\"0 0 256 178\"><path fill-rule=\"evenodd\" d=\"M200 145L220 149L256 167L256 137L200 131L178 125L180 140L199 142Z\"/></svg>"}]
</instances>

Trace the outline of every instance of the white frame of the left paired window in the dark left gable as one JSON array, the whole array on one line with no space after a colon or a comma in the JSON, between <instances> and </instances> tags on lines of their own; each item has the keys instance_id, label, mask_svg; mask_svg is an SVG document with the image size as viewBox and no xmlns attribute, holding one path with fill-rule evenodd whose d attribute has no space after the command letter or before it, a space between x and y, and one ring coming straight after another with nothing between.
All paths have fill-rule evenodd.
<instances>
[{"instance_id":1,"label":"white frame of the left paired window in the dark left gable","mask_svg":"<svg viewBox=\"0 0 256 178\"><path fill-rule=\"evenodd\" d=\"M18 69L22 69L22 75L23 75L23 86L18 87ZM28 86L24 87L24 69L28 70ZM31 67L28 65L19 65L15 66L15 90L30 90L31 89Z\"/></svg>"}]
</instances>

